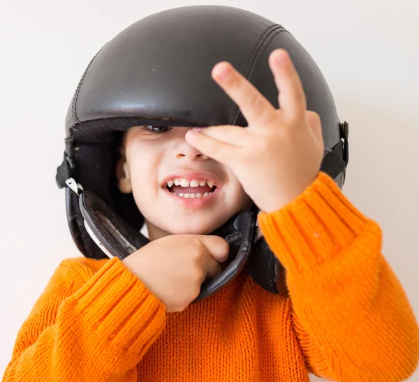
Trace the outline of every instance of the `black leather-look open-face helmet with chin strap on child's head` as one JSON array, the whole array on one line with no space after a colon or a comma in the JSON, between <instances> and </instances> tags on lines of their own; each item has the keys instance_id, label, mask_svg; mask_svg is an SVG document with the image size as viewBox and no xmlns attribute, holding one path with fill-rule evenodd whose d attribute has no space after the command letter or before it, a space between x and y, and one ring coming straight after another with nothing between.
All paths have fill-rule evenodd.
<instances>
[{"instance_id":1,"label":"black leather-look open-face helmet with chin strap on child's head","mask_svg":"<svg viewBox=\"0 0 419 382\"><path fill-rule=\"evenodd\" d=\"M124 258L149 240L132 194L115 179L117 146L131 126L247 126L235 103L211 78L229 61L274 105L278 91L268 57L284 48L300 75L307 109L321 117L325 158L321 170L343 186L348 162L348 124L341 124L320 69L284 27L247 10L186 6L131 24L90 61L66 116L64 161L57 184L66 187L68 225L89 258ZM267 291L278 293L281 264L258 237L258 208L233 216L212 235L226 238L226 270L206 281L196 301L226 285L247 266ZM258 254L257 261L252 254Z\"/></svg>"}]
</instances>

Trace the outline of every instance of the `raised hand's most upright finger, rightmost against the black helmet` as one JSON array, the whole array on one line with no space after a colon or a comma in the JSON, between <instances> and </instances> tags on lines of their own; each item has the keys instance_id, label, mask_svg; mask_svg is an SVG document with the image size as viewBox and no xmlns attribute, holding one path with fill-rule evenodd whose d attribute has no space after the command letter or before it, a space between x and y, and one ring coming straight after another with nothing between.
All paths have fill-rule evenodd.
<instances>
[{"instance_id":1,"label":"raised hand's most upright finger, rightmost against the black helmet","mask_svg":"<svg viewBox=\"0 0 419 382\"><path fill-rule=\"evenodd\" d=\"M279 95L279 108L286 119L304 119L307 99L300 76L293 61L284 49L274 50L269 57L269 65L274 75Z\"/></svg>"}]
</instances>

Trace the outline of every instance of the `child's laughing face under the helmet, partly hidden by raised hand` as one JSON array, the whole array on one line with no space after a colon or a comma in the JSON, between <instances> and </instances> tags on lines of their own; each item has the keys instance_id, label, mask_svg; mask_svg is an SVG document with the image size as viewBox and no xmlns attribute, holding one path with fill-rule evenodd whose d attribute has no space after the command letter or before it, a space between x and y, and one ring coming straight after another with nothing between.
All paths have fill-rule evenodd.
<instances>
[{"instance_id":1,"label":"child's laughing face under the helmet, partly hidden by raised hand","mask_svg":"<svg viewBox=\"0 0 419 382\"><path fill-rule=\"evenodd\" d=\"M228 166L204 156L186 142L188 130L134 126L124 135L122 159L117 166L119 189L133 193L138 209L145 216L150 240L170 234L206 235L251 206L251 199ZM182 178L189 182L212 180L216 189L203 196L203 191L211 191L211 184L191 187L197 184L193 182L187 189L179 188L184 182L168 190L170 179ZM195 195L182 198L175 191ZM199 198L198 194L202 196Z\"/></svg>"}]
</instances>

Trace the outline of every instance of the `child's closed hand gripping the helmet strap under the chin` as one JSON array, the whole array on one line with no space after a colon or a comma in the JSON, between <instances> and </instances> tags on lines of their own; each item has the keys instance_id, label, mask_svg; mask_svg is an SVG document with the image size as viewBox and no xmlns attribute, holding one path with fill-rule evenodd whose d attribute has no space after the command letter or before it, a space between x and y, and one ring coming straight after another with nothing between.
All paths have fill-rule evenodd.
<instances>
[{"instance_id":1,"label":"child's closed hand gripping the helmet strap under the chin","mask_svg":"<svg viewBox=\"0 0 419 382\"><path fill-rule=\"evenodd\" d=\"M214 235L170 235L153 240L122 262L163 304L184 310L207 277L221 272L228 243Z\"/></svg>"}]
</instances>

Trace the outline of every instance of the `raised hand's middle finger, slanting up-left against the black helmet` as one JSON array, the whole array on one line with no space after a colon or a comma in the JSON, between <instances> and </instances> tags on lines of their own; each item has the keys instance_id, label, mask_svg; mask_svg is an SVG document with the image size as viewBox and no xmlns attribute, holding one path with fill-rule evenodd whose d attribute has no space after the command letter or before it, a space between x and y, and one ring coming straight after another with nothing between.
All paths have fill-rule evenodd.
<instances>
[{"instance_id":1,"label":"raised hand's middle finger, slanting up-left against the black helmet","mask_svg":"<svg viewBox=\"0 0 419 382\"><path fill-rule=\"evenodd\" d=\"M275 108L243 75L226 61L212 69L212 78L237 104L247 123L253 126L269 124L275 117ZM260 127L259 127L260 128Z\"/></svg>"}]
</instances>

